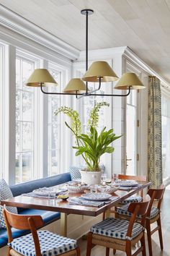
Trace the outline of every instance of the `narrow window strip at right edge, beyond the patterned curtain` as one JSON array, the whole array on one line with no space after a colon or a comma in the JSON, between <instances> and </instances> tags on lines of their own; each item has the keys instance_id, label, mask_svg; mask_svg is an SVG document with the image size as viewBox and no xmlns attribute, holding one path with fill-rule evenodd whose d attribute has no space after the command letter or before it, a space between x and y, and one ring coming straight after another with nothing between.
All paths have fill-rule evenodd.
<instances>
[{"instance_id":1,"label":"narrow window strip at right edge, beyond the patterned curtain","mask_svg":"<svg viewBox=\"0 0 170 256\"><path fill-rule=\"evenodd\" d=\"M169 178L170 166L170 101L162 96L162 168L163 179Z\"/></svg>"}]
</instances>

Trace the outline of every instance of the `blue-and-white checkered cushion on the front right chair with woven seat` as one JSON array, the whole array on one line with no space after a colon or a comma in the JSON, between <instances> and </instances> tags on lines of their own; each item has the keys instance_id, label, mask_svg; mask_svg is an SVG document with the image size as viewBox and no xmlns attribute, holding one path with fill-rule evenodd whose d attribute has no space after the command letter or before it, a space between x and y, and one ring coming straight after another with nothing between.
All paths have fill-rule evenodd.
<instances>
[{"instance_id":1,"label":"blue-and-white checkered cushion on the front right chair with woven seat","mask_svg":"<svg viewBox=\"0 0 170 256\"><path fill-rule=\"evenodd\" d=\"M129 221L120 218L106 218L94 226L91 226L90 231L94 234L100 234L102 236L109 236L117 239L129 239L132 240L135 236L138 236L144 229L140 223L134 223L132 237L127 236Z\"/></svg>"}]
</instances>

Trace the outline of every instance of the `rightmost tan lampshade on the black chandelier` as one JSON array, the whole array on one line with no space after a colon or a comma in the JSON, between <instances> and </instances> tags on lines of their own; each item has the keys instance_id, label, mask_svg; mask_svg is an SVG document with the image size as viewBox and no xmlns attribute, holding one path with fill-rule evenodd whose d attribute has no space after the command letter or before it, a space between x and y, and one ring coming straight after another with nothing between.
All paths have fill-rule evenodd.
<instances>
[{"instance_id":1,"label":"rightmost tan lampshade on the black chandelier","mask_svg":"<svg viewBox=\"0 0 170 256\"><path fill-rule=\"evenodd\" d=\"M120 80L115 85L115 89L127 90L129 86L131 86L130 89L133 90L145 88L145 86L135 73L125 73L122 74L122 77L120 77Z\"/></svg>"}]
</instances>

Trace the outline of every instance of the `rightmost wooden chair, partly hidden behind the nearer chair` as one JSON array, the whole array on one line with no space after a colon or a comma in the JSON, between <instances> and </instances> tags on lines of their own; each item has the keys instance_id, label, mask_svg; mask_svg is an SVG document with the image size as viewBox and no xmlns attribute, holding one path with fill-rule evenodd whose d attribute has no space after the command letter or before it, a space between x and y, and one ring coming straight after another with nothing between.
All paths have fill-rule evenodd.
<instances>
[{"instance_id":1,"label":"rightmost wooden chair, partly hidden behind the nearer chair","mask_svg":"<svg viewBox=\"0 0 170 256\"><path fill-rule=\"evenodd\" d=\"M161 250L163 250L163 239L162 239L162 231L161 231L161 202L164 196L165 187L161 185L159 189L149 189L148 195L151 197L151 202L148 207L148 213L146 216L146 231L148 236L148 249L149 255L152 256L152 242L151 235L158 231L159 242L161 246ZM153 206L154 203L154 206ZM117 208L117 216L118 218L124 218L129 220L131 213L128 212L128 205ZM137 221L141 221L141 217L137 216ZM155 229L151 231L151 224L157 222L157 226Z\"/></svg>"}]
</instances>

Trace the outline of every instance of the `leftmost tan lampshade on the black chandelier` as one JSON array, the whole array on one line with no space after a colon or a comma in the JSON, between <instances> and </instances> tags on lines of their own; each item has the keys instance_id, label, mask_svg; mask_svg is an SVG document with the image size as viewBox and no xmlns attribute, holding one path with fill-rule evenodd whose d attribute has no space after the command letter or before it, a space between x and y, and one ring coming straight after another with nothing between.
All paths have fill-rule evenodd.
<instances>
[{"instance_id":1,"label":"leftmost tan lampshade on the black chandelier","mask_svg":"<svg viewBox=\"0 0 170 256\"><path fill-rule=\"evenodd\" d=\"M58 83L53 79L50 72L47 69L35 69L35 71L30 75L26 82L27 86L40 87L42 86L56 86Z\"/></svg>"}]
</instances>

